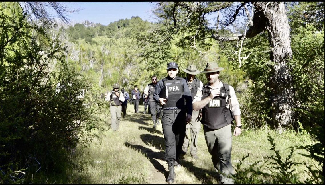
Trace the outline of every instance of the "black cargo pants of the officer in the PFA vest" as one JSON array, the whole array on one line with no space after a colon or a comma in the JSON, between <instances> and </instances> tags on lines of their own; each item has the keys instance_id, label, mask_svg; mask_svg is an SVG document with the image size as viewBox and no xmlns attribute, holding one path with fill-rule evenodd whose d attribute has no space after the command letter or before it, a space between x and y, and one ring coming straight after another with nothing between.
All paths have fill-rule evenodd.
<instances>
[{"instance_id":1,"label":"black cargo pants of the officer in the PFA vest","mask_svg":"<svg viewBox=\"0 0 325 185\"><path fill-rule=\"evenodd\" d=\"M165 138L165 160L179 160L186 131L186 112L184 110L163 110L162 132ZM178 161L179 162L179 161Z\"/></svg>"}]
</instances>

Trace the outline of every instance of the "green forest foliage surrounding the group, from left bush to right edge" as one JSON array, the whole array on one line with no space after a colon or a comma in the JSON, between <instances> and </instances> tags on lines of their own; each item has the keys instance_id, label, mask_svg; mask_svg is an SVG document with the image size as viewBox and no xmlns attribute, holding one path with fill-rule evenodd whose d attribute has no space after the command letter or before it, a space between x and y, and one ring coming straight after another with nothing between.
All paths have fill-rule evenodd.
<instances>
[{"instance_id":1,"label":"green forest foliage surrounding the group, from left bush to right edge","mask_svg":"<svg viewBox=\"0 0 325 185\"><path fill-rule=\"evenodd\" d=\"M324 106L319 106L324 100L320 5L286 4L296 110L292 129L308 133L324 128ZM90 130L102 129L103 94L113 83L129 93L137 85L142 92L152 75L158 80L166 77L166 64L171 61L178 63L181 77L186 77L183 69L189 64L203 70L207 62L216 61L225 68L219 78L237 92L243 127L272 128L268 85L272 63L266 32L244 40L241 55L249 57L239 65L238 42L189 40L193 30L164 35L164 24L138 16L107 26L85 21L41 27L30 24L28 15L17 7L1 3L0 10L0 177L27 166L34 171L57 167L77 143L86 145L99 137ZM203 74L197 77L207 82ZM317 121L306 116L312 112L320 114ZM318 131L324 135L323 129ZM317 141L324 147L323 140ZM323 151L318 154L324 157Z\"/></svg>"}]
</instances>

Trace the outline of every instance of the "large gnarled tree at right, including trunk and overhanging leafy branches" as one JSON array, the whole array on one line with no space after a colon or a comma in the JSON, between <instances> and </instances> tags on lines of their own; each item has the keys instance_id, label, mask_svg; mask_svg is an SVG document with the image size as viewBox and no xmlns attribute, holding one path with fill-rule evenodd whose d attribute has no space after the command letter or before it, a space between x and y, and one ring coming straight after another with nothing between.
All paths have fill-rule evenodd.
<instances>
[{"instance_id":1,"label":"large gnarled tree at right, including trunk and overhanging leafy branches","mask_svg":"<svg viewBox=\"0 0 325 185\"><path fill-rule=\"evenodd\" d=\"M283 2L159 2L155 13L164 23L166 29L160 33L164 33L167 39L176 32L188 31L192 34L187 39L193 42L206 38L218 42L243 41L267 31L273 63L273 76L269 79L273 122L278 129L292 125L293 83L288 65L292 50ZM208 18L213 14L216 18L212 20L214 25L210 26L211 19ZM219 14L222 15L220 18ZM238 30L240 23L244 25ZM229 31L225 34L224 30L230 26L233 27L231 34ZM239 54L239 63L242 58Z\"/></svg>"}]
</instances>

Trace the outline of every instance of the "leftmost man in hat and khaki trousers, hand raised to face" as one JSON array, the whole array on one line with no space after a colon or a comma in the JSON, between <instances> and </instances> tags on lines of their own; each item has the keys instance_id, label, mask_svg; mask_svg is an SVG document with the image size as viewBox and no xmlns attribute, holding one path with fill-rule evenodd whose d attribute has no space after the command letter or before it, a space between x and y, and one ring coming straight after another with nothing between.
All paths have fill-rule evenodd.
<instances>
[{"instance_id":1,"label":"leftmost man in hat and khaki trousers, hand raised to face","mask_svg":"<svg viewBox=\"0 0 325 185\"><path fill-rule=\"evenodd\" d=\"M105 100L109 99L110 102L110 120L114 131L119 129L122 111L121 105L125 100L122 91L119 92L119 88L120 85L114 83L113 90L105 95Z\"/></svg>"}]
</instances>

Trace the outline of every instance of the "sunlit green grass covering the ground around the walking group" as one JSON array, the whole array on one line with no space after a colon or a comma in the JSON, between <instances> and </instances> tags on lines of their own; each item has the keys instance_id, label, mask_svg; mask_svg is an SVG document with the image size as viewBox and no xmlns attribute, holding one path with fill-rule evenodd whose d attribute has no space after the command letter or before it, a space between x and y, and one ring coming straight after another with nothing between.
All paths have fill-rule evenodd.
<instances>
[{"instance_id":1,"label":"sunlit green grass covering the ground around the walking group","mask_svg":"<svg viewBox=\"0 0 325 185\"><path fill-rule=\"evenodd\" d=\"M139 112L143 112L143 105ZM109 114L109 111L107 111ZM119 130L110 129L110 115L107 115L107 130L103 133L102 141L95 141L85 150L77 152L73 167L68 167L63 175L42 178L43 183L81 183L81 184L164 184L168 176L167 163L164 158L164 138L161 124L153 129L149 114L133 113L133 105L128 105L126 118L122 118ZM263 160L263 156L274 154L267 141L267 134L274 138L276 148L282 158L286 158L290 146L310 144L313 141L303 135L291 131L277 134L272 130L242 130L242 134L233 137L232 161L233 166L239 163L243 156L250 156L242 161L242 168ZM304 151L300 151L304 152ZM204 140L203 129L198 138L199 159L184 155L182 167L176 168L176 184L211 184L219 183L214 170L211 156ZM309 158L294 153L295 162L317 164ZM306 178L305 166L297 166L296 172L300 178Z\"/></svg>"}]
</instances>

